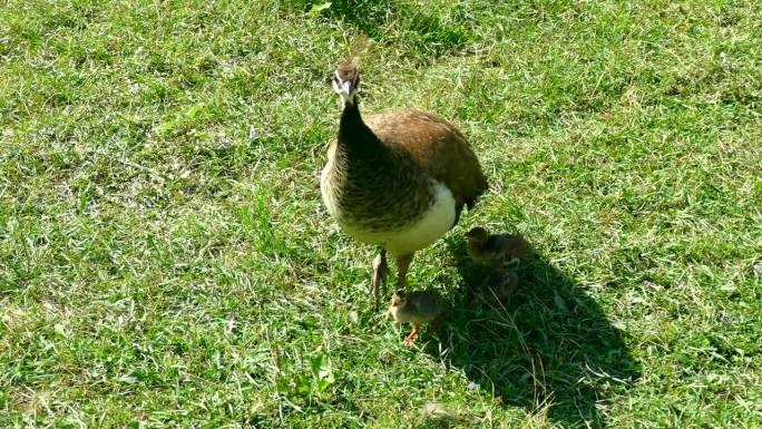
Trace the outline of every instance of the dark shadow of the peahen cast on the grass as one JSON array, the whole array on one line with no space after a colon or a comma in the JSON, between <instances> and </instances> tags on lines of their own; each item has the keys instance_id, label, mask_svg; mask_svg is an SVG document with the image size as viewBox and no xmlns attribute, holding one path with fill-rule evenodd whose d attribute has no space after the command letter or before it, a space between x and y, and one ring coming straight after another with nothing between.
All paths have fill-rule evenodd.
<instances>
[{"instance_id":1,"label":"dark shadow of the peahen cast on the grass","mask_svg":"<svg viewBox=\"0 0 762 429\"><path fill-rule=\"evenodd\" d=\"M447 245L462 282L443 347L430 343L427 352L461 368L473 388L491 390L504 404L563 427L605 427L607 398L627 389L641 369L600 306L538 255L521 261L518 286L505 302L480 299L475 291L483 271L462 238Z\"/></svg>"}]
</instances>

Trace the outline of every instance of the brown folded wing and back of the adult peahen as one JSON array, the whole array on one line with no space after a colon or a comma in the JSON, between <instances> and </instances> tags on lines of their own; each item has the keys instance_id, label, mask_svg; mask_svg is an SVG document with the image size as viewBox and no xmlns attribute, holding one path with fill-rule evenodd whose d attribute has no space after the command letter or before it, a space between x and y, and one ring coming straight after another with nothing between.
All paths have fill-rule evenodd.
<instances>
[{"instance_id":1,"label":"brown folded wing and back of the adult peahen","mask_svg":"<svg viewBox=\"0 0 762 429\"><path fill-rule=\"evenodd\" d=\"M447 120L408 110L369 115L364 121L384 144L404 147L427 174L450 188L459 205L471 208L487 191L471 146Z\"/></svg>"}]
</instances>

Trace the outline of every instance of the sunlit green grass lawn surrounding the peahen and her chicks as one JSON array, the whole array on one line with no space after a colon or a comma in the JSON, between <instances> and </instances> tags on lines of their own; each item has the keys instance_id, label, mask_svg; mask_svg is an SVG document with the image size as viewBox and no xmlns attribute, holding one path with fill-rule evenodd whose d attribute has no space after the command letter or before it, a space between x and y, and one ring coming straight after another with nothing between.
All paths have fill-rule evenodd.
<instances>
[{"instance_id":1,"label":"sunlit green grass lawn surrounding the peahen and her chicks","mask_svg":"<svg viewBox=\"0 0 762 429\"><path fill-rule=\"evenodd\" d=\"M755 1L1 3L0 427L762 426ZM414 349L320 202L360 32L491 182ZM504 308L472 225L538 250Z\"/></svg>"}]
</instances>

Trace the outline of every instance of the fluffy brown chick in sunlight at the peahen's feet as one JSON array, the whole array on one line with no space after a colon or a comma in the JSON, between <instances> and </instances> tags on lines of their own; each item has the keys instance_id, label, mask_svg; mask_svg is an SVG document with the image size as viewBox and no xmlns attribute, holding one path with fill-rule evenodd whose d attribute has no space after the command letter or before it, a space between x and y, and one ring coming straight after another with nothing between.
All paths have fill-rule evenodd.
<instances>
[{"instance_id":1,"label":"fluffy brown chick in sunlight at the peahen's feet","mask_svg":"<svg viewBox=\"0 0 762 429\"><path fill-rule=\"evenodd\" d=\"M397 323L413 325L413 330L404 339L406 343L416 341L423 324L439 322L443 310L444 300L436 291L399 290L392 294L391 305L389 305L389 313Z\"/></svg>"}]
</instances>

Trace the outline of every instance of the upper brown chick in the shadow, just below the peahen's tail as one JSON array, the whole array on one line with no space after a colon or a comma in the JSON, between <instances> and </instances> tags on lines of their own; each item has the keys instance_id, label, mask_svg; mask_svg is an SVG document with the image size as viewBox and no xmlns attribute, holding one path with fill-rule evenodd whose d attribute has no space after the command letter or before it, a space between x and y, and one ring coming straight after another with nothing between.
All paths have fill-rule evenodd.
<instances>
[{"instance_id":1,"label":"upper brown chick in the shadow, just below the peahen's tail","mask_svg":"<svg viewBox=\"0 0 762 429\"><path fill-rule=\"evenodd\" d=\"M500 267L531 252L531 244L518 234L489 234L477 226L466 237L469 256L482 264Z\"/></svg>"}]
</instances>

